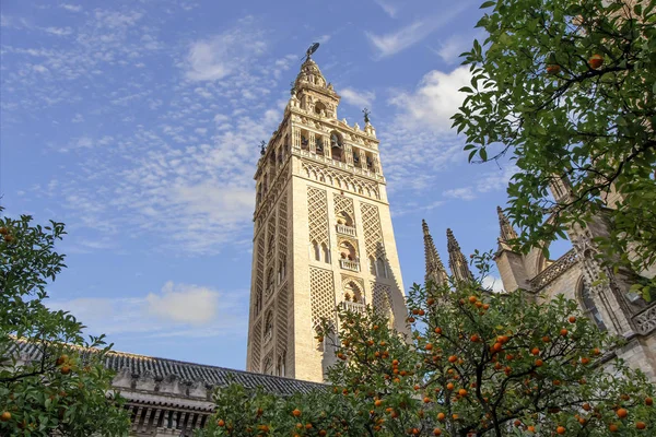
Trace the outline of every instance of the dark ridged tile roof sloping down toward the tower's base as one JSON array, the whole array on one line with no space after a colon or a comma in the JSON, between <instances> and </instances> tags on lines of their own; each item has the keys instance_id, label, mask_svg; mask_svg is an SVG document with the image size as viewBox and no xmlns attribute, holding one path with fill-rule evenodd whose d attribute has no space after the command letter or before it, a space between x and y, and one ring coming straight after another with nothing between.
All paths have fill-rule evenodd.
<instances>
[{"instance_id":1,"label":"dark ridged tile roof sloping down toward the tower's base","mask_svg":"<svg viewBox=\"0 0 656 437\"><path fill-rule=\"evenodd\" d=\"M39 359L38 344L17 341L21 354L27 359ZM85 350L82 355L98 353L98 350ZM261 387L263 390L276 394L293 394L309 392L325 385L298 379L283 378L271 375L254 374L250 371L235 370L225 367L209 366L180 362L176 359L156 358L153 356L137 355L125 352L110 351L105 356L105 367L121 373L129 370L132 377L148 376L155 379L179 379L191 383L207 386L226 386L231 382L239 383L246 388Z\"/></svg>"}]
</instances>

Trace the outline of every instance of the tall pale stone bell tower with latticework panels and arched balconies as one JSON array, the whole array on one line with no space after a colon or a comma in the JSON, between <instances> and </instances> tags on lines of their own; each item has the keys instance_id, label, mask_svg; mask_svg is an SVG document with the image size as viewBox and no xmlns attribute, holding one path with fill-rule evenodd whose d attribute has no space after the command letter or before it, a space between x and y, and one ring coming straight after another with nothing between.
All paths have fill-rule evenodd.
<instances>
[{"instance_id":1,"label":"tall pale stone bell tower with latticework panels and arched balconies","mask_svg":"<svg viewBox=\"0 0 656 437\"><path fill-rule=\"evenodd\" d=\"M338 120L340 97L309 55L255 174L250 371L323 381L315 339L336 308L373 305L403 330L403 283L376 131Z\"/></svg>"}]
</instances>

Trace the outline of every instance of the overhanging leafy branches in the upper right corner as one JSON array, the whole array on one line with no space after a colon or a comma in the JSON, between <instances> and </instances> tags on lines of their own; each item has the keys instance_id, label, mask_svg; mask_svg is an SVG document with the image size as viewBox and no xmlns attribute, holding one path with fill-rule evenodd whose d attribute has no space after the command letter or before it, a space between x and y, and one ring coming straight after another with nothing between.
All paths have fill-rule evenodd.
<instances>
[{"instance_id":1,"label":"overhanging leafy branches in the upper right corner","mask_svg":"<svg viewBox=\"0 0 656 437\"><path fill-rule=\"evenodd\" d=\"M517 247L547 247L606 208L606 261L656 262L656 0L485 1L485 40L454 127L473 162L506 153ZM562 200L548 189L564 177ZM614 191L613 191L614 190ZM619 192L614 199L608 194ZM550 214L552 221L546 221ZM630 255L633 253L633 255ZM613 257L608 257L613 255Z\"/></svg>"}]
</instances>

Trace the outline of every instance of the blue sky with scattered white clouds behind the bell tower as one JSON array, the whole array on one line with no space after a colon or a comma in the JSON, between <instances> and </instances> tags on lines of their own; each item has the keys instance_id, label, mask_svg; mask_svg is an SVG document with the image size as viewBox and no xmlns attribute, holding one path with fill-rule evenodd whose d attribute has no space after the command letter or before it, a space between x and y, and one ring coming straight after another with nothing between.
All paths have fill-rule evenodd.
<instances>
[{"instance_id":1,"label":"blue sky with scattered white clouds behind the bell tower","mask_svg":"<svg viewBox=\"0 0 656 437\"><path fill-rule=\"evenodd\" d=\"M245 367L258 144L313 42L338 117L372 110L406 288L421 218L445 261L446 227L494 248L513 167L467 164L448 129L478 7L3 1L0 194L67 224L51 306L120 351Z\"/></svg>"}]
</instances>

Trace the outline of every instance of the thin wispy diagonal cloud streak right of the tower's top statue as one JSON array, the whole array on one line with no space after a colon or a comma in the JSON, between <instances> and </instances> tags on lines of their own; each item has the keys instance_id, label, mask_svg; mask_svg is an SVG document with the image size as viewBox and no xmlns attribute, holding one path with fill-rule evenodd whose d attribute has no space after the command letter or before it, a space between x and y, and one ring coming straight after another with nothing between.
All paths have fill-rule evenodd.
<instances>
[{"instance_id":1,"label":"thin wispy diagonal cloud streak right of the tower's top statue","mask_svg":"<svg viewBox=\"0 0 656 437\"><path fill-rule=\"evenodd\" d=\"M467 2L461 1L448 9L443 9L438 15L417 20L396 32L386 35L365 32L365 35L376 49L377 58L386 58L415 45L440 27L449 24L466 7Z\"/></svg>"}]
</instances>

